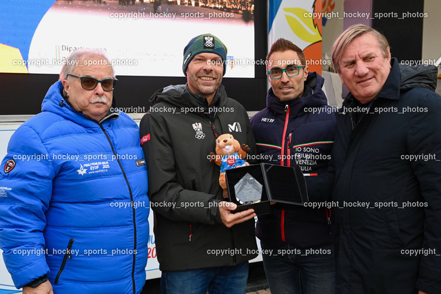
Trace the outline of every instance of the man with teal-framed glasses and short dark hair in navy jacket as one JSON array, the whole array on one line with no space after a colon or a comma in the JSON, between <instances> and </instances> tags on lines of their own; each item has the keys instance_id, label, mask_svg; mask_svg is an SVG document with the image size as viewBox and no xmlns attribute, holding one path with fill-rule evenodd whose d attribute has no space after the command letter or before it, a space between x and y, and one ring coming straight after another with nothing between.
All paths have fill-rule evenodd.
<instances>
[{"instance_id":1,"label":"man with teal-framed glasses and short dark hair in navy jacket","mask_svg":"<svg viewBox=\"0 0 441 294\"><path fill-rule=\"evenodd\" d=\"M308 72L296 45L278 39L267 55L271 88L267 108L251 119L263 162L298 165L305 176L326 171L336 118L322 91L323 78ZM256 235L271 293L334 293L330 210L274 204L258 217Z\"/></svg>"}]
</instances>

